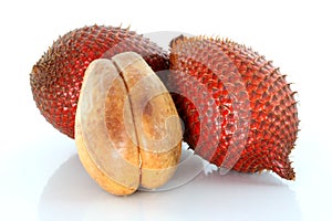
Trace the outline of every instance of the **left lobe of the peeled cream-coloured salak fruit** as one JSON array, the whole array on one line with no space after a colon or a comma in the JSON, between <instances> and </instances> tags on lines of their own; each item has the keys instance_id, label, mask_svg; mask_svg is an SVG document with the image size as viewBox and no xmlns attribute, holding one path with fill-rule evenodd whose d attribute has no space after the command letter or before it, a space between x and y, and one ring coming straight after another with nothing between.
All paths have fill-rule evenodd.
<instances>
[{"instance_id":1,"label":"left lobe of the peeled cream-coloured salak fruit","mask_svg":"<svg viewBox=\"0 0 332 221\"><path fill-rule=\"evenodd\" d=\"M108 93L113 93L111 99ZM126 94L112 62L95 61L85 72L75 118L80 159L90 176L113 194L128 194L139 186L137 143L121 133L134 127L131 114L123 114ZM124 117L128 118L126 128Z\"/></svg>"}]
</instances>

